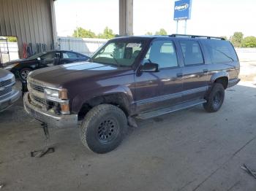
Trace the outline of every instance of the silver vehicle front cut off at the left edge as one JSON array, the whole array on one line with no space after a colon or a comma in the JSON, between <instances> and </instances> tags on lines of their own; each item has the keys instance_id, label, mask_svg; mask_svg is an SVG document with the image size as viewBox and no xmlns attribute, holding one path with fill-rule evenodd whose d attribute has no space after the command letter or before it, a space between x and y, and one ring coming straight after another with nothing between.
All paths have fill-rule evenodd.
<instances>
[{"instance_id":1,"label":"silver vehicle front cut off at the left edge","mask_svg":"<svg viewBox=\"0 0 256 191\"><path fill-rule=\"evenodd\" d=\"M15 77L9 71L0 69L0 112L20 98L20 91L13 88Z\"/></svg>"}]
</instances>

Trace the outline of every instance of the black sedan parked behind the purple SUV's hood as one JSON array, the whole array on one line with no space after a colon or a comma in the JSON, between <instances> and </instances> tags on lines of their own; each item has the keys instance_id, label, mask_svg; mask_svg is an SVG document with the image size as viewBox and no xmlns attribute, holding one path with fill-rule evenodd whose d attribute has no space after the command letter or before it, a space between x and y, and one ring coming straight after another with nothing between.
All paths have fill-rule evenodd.
<instances>
[{"instance_id":1,"label":"black sedan parked behind the purple SUV's hood","mask_svg":"<svg viewBox=\"0 0 256 191\"><path fill-rule=\"evenodd\" d=\"M64 63L74 63L79 61L87 61L88 56L78 52L65 50L51 50L48 52L38 53L26 59L20 59L5 63L4 69L11 71L16 77L22 81L26 81L30 71L42 69L48 66L59 65Z\"/></svg>"}]
</instances>

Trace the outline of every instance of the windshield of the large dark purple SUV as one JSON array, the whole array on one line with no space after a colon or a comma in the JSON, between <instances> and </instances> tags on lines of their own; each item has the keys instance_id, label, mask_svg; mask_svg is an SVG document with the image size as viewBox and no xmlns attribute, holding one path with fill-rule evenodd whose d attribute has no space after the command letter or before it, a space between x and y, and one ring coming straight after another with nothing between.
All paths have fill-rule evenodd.
<instances>
[{"instance_id":1,"label":"windshield of the large dark purple SUV","mask_svg":"<svg viewBox=\"0 0 256 191\"><path fill-rule=\"evenodd\" d=\"M143 42L110 42L99 49L91 58L91 61L115 66L132 66L135 59L143 49Z\"/></svg>"}]
</instances>

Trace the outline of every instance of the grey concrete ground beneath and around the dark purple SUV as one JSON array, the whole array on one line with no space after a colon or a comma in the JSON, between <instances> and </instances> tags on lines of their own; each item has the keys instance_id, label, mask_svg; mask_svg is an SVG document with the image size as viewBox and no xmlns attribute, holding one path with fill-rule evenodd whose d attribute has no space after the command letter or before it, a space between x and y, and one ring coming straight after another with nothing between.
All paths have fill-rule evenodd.
<instances>
[{"instance_id":1,"label":"grey concrete ground beneath and around the dark purple SUV","mask_svg":"<svg viewBox=\"0 0 256 191\"><path fill-rule=\"evenodd\" d=\"M202 106L138 121L120 147L105 155L80 143L78 128L50 129L56 152L44 146L40 123L22 100L0 114L1 190L254 190L256 179L255 63L241 63L243 81L226 91L217 113ZM253 73L255 72L255 73Z\"/></svg>"}]
</instances>

